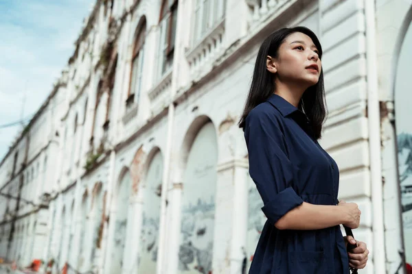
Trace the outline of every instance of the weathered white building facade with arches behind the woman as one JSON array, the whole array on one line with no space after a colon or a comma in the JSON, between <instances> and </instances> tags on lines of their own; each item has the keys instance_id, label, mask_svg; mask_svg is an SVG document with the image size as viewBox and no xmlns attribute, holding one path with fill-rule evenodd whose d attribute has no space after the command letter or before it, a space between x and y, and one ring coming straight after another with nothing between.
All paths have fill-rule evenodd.
<instances>
[{"instance_id":1,"label":"weathered white building facade with arches behind the woman","mask_svg":"<svg viewBox=\"0 0 412 274\"><path fill-rule=\"evenodd\" d=\"M98 0L0 165L0 257L54 273L246 273L265 217L236 125L258 48L323 46L321 145L365 273L412 264L411 0Z\"/></svg>"}]
</instances>

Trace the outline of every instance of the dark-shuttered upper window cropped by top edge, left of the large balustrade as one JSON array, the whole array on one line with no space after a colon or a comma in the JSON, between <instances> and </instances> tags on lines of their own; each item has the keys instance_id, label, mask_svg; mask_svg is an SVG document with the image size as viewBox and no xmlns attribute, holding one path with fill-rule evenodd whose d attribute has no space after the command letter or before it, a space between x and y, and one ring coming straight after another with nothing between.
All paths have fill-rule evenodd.
<instances>
[{"instance_id":1,"label":"dark-shuttered upper window cropped by top edge, left of the large balustrade","mask_svg":"<svg viewBox=\"0 0 412 274\"><path fill-rule=\"evenodd\" d=\"M177 0L163 0L160 10L159 75L172 67L176 40Z\"/></svg>"}]
</instances>

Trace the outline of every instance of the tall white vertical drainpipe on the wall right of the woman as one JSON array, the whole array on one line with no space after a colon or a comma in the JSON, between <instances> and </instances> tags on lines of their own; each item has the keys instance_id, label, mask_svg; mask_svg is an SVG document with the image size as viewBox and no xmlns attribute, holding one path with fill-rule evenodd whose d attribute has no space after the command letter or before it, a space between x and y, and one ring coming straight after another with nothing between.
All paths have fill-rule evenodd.
<instances>
[{"instance_id":1,"label":"tall white vertical drainpipe on the wall right of the woman","mask_svg":"<svg viewBox=\"0 0 412 274\"><path fill-rule=\"evenodd\" d=\"M380 147L380 108L378 73L376 70L375 1L365 0L367 116L369 128L369 158L371 174L371 202L373 209L374 273L386 273L385 238L383 225L382 167Z\"/></svg>"}]
</instances>

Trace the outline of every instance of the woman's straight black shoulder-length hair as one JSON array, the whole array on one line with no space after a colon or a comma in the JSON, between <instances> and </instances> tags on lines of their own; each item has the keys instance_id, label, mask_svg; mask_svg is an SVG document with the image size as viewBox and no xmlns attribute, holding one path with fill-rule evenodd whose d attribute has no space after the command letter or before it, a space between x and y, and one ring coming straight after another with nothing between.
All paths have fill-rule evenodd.
<instances>
[{"instance_id":1,"label":"woman's straight black shoulder-length hair","mask_svg":"<svg viewBox=\"0 0 412 274\"><path fill-rule=\"evenodd\" d=\"M238 123L240 128L244 129L244 122L249 112L251 112L255 106L266 101L266 99L268 99L268 97L275 92L275 74L266 69L266 58L268 55L273 58L277 58L280 45L282 45L284 40L290 34L295 32L301 32L309 36L319 51L319 58L322 58L321 43L319 42L317 36L307 27L286 27L269 35L260 46L258 57L256 58L251 88L249 89L249 95ZM319 81L317 84L310 86L304 92L304 95L301 97L301 101L299 101L298 108L308 117L310 124L312 125L314 137L317 139L321 138L322 125L326 117L323 70L319 75Z\"/></svg>"}]
</instances>

